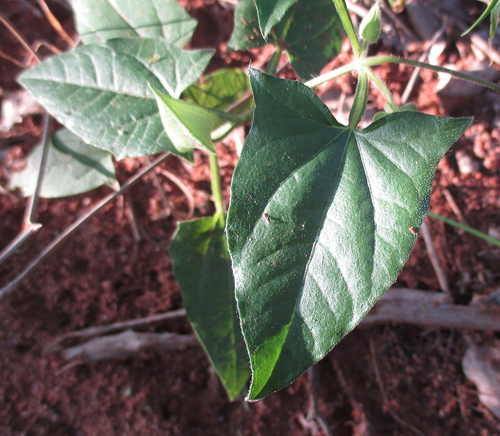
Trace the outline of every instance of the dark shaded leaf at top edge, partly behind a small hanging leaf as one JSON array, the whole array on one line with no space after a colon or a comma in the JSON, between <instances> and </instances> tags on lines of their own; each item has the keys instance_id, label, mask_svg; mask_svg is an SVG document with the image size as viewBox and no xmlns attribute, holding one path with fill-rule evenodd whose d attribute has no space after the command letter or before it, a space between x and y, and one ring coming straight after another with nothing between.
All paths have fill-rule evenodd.
<instances>
[{"instance_id":1,"label":"dark shaded leaf at top edge, partly behind a small hanging leaf","mask_svg":"<svg viewBox=\"0 0 500 436\"><path fill-rule=\"evenodd\" d=\"M244 12L239 16L239 12ZM255 30L257 12L251 0L239 0L229 46L238 50L260 47L264 40ZM342 46L343 27L332 0L299 0L272 35L286 47L295 72L304 80L320 74ZM270 37L274 40L274 36Z\"/></svg>"}]
</instances>

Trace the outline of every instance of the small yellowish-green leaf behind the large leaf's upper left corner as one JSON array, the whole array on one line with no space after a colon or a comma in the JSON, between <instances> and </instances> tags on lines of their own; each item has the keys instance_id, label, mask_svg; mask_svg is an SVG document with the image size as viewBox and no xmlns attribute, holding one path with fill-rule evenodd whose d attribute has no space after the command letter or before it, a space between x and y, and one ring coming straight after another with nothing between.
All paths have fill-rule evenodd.
<instances>
[{"instance_id":1,"label":"small yellowish-green leaf behind the large leaf's upper left corner","mask_svg":"<svg viewBox=\"0 0 500 436\"><path fill-rule=\"evenodd\" d=\"M225 111L249 91L248 76L244 71L235 68L218 70L206 76L201 84L191 85L183 95L187 101L199 106ZM236 113L246 112L252 107L252 99L249 99L249 102L239 107Z\"/></svg>"}]
</instances>

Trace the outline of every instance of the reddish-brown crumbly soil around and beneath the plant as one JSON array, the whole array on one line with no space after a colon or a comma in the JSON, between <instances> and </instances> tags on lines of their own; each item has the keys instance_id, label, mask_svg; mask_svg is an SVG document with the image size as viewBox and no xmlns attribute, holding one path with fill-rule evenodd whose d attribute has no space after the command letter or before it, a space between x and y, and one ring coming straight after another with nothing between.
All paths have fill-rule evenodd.
<instances>
[{"instance_id":1,"label":"reddish-brown crumbly soil around and beneath the plant","mask_svg":"<svg viewBox=\"0 0 500 436\"><path fill-rule=\"evenodd\" d=\"M64 28L74 35L70 8L48 1ZM266 51L226 53L232 13L215 0L184 1L200 21L191 47L215 47L210 68L246 65ZM0 11L30 42L46 41L68 48L33 1L4 0ZM381 51L384 47L379 47ZM2 55L24 62L24 48L0 25ZM39 51L41 57L49 52ZM343 56L347 56L344 53ZM418 57L418 53L416 55ZM453 48L445 53L458 62ZM467 53L464 67L473 57ZM494 67L498 68L498 67ZM22 70L0 58L2 99L18 89ZM378 73L399 98L411 74L406 67L380 67ZM500 223L500 131L495 105L484 98L455 101L444 109L434 93L437 77L425 72L412 94L429 113L475 116L473 126L439 165L431 210L455 218L444 196L447 188L468 223L484 232ZM350 89L350 79L339 80ZM382 98L371 95L381 107ZM498 101L498 100L497 100ZM465 109L464 109L465 108ZM31 150L41 133L41 116L27 116L10 132L2 133L1 184ZM479 163L469 174L457 165L457 151ZM236 162L234 144L219 145L225 202ZM195 201L195 216L213 212L208 162L196 154L195 165L172 157L164 168L182 178ZM120 181L140 166L126 159L118 164ZM7 298L0 301L0 434L5 435L307 435L321 434L304 424L309 408L309 374L260 402L230 402L210 369L200 346L174 352L147 352L135 358L100 363L68 364L47 346L60 335L78 329L125 321L182 307L167 247L176 219L188 207L182 191L161 179L173 214L162 216L161 201L152 177L130 191L137 221L157 241L135 242L127 219L127 202L117 201L93 217L47 262ZM14 256L0 265L0 286L13 279L54 237L88 211L108 188L60 200L41 200L37 221L43 228ZM25 201L0 195L0 247L19 232ZM500 286L498 257L488 245L466 233L429 221L441 263L452 289L469 276L465 294L487 294ZM496 262L496 263L495 263ZM397 285L439 290L423 240L418 239ZM457 298L458 295L455 295ZM190 333L188 322L165 321L148 331ZM467 340L491 343L491 333L423 329L386 325L349 334L314 369L319 404L335 435L498 435L500 422L478 400L466 380L461 360ZM377 370L380 374L377 380ZM390 409L383 398L387 399ZM394 414L397 416L395 417ZM363 428L368 428L363 433ZM370 433L371 429L371 433Z\"/></svg>"}]
</instances>

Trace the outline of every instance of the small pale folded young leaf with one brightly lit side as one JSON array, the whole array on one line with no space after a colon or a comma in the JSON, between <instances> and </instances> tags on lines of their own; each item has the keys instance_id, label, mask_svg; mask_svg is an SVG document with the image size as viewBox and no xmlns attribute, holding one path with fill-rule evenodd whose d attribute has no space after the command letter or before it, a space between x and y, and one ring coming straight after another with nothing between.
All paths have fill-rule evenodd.
<instances>
[{"instance_id":1,"label":"small pale folded young leaf with one brightly lit side","mask_svg":"<svg viewBox=\"0 0 500 436\"><path fill-rule=\"evenodd\" d=\"M221 123L214 112L192 103L169 97L153 86L161 121L168 138L181 153L199 148L215 153L210 134Z\"/></svg>"}]
</instances>

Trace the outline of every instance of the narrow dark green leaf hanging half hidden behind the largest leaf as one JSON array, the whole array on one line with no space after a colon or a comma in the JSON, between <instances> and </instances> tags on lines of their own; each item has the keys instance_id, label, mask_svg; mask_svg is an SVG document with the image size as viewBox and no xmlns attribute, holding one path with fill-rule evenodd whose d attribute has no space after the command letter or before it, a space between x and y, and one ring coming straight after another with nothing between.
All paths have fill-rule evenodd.
<instances>
[{"instance_id":1,"label":"narrow dark green leaf hanging half hidden behind the largest leaf","mask_svg":"<svg viewBox=\"0 0 500 436\"><path fill-rule=\"evenodd\" d=\"M224 234L224 216L179 224L170 245L186 313L229 397L250 375L234 299L234 281Z\"/></svg>"}]
</instances>

